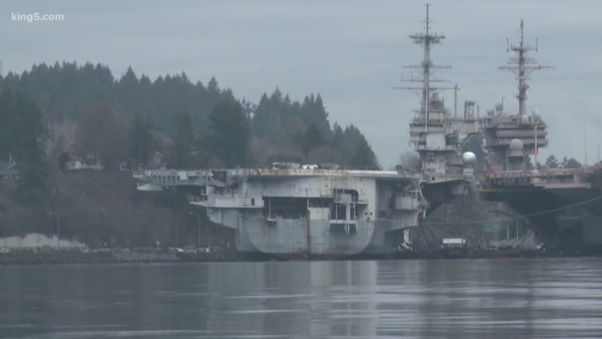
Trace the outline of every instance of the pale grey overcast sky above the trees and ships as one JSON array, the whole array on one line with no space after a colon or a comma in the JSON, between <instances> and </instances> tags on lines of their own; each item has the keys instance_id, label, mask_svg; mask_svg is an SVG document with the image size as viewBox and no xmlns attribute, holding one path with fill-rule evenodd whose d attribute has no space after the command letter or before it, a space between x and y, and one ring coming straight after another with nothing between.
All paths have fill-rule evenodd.
<instances>
[{"instance_id":1,"label":"pale grey overcast sky above the trees and ships","mask_svg":"<svg viewBox=\"0 0 602 339\"><path fill-rule=\"evenodd\" d=\"M423 1L2 1L2 73L34 63L103 63L119 78L129 65L156 78L182 71L207 83L215 76L237 97L257 103L280 87L294 100L321 93L330 122L361 128L388 168L408 150L408 123L418 98L400 86L403 65L420 63L408 39L422 30ZM63 14L61 22L12 21L12 13ZM528 42L539 38L527 110L549 125L550 153L597 160L602 131L602 1L432 1L432 30L447 39L432 60L452 69L459 103L481 113L504 99L518 110L517 81L497 66L512 56L525 20ZM452 83L452 86L453 86ZM453 109L453 91L443 93ZM460 108L459 108L460 109Z\"/></svg>"}]
</instances>

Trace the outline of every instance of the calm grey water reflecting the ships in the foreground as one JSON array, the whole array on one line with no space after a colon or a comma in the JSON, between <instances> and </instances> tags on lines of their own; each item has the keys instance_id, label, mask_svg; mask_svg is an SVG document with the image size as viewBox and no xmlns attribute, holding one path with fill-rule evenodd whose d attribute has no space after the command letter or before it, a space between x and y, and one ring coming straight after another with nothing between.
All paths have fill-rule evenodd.
<instances>
[{"instance_id":1,"label":"calm grey water reflecting the ships in the foreground","mask_svg":"<svg viewBox=\"0 0 602 339\"><path fill-rule=\"evenodd\" d=\"M602 261L0 267L2 338L602 337Z\"/></svg>"}]
</instances>

